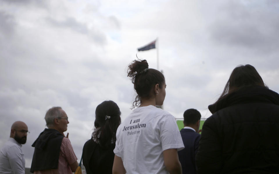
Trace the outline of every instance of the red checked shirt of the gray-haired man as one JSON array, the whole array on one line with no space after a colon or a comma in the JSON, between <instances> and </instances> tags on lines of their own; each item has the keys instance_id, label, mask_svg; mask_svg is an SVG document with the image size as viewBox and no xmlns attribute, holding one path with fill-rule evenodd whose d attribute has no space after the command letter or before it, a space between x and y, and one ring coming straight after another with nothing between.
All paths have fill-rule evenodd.
<instances>
[{"instance_id":1,"label":"red checked shirt of the gray-haired man","mask_svg":"<svg viewBox=\"0 0 279 174\"><path fill-rule=\"evenodd\" d=\"M42 171L34 171L34 174L72 174L69 164L73 164L78 158L74 153L74 149L71 145L71 142L68 138L64 137L62 139L58 168L57 169L48 169Z\"/></svg>"}]
</instances>

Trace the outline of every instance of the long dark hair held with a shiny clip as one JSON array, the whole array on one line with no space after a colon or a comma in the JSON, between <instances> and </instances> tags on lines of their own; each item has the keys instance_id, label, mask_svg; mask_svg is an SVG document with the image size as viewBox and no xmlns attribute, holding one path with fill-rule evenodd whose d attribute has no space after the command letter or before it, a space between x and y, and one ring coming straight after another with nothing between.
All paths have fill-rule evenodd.
<instances>
[{"instance_id":1,"label":"long dark hair held with a shiny clip","mask_svg":"<svg viewBox=\"0 0 279 174\"><path fill-rule=\"evenodd\" d=\"M116 131L121 123L119 107L111 100L104 101L96 107L95 115L93 139L103 148L115 145Z\"/></svg>"}]
</instances>

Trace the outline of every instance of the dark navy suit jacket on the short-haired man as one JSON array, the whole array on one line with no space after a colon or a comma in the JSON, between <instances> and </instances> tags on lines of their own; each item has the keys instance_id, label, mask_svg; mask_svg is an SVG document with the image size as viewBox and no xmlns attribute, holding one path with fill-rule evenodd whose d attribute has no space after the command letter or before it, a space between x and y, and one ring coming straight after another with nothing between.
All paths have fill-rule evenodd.
<instances>
[{"instance_id":1,"label":"dark navy suit jacket on the short-haired man","mask_svg":"<svg viewBox=\"0 0 279 174\"><path fill-rule=\"evenodd\" d=\"M183 174L196 174L195 156L198 152L198 142L201 138L199 133L192 129L183 128L180 131L185 148L178 151L179 161Z\"/></svg>"}]
</instances>

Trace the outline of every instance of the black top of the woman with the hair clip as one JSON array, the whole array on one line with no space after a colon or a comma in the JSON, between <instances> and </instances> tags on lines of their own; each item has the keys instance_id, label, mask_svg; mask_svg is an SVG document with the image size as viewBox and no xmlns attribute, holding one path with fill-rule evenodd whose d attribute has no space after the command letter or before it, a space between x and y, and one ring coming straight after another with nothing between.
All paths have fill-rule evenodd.
<instances>
[{"instance_id":1,"label":"black top of the woman with the hair clip","mask_svg":"<svg viewBox=\"0 0 279 174\"><path fill-rule=\"evenodd\" d=\"M87 174L110 174L112 173L112 165L114 161L113 149L115 143L109 148L102 148L94 142L93 138L88 140L82 151L82 162Z\"/></svg>"}]
</instances>

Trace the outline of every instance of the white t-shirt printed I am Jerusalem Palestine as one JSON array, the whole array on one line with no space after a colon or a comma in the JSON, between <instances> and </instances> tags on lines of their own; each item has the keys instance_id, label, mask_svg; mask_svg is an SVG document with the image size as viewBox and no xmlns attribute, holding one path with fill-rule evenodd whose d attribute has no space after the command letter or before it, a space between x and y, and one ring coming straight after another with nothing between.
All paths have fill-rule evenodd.
<instances>
[{"instance_id":1,"label":"white t-shirt printed I am Jerusalem Palestine","mask_svg":"<svg viewBox=\"0 0 279 174\"><path fill-rule=\"evenodd\" d=\"M152 105L136 108L116 132L114 153L127 173L168 173L163 151L170 148L184 148L174 116Z\"/></svg>"}]
</instances>

